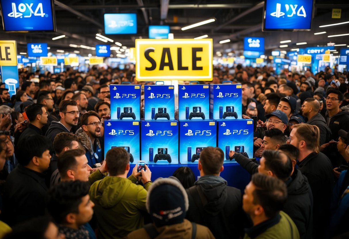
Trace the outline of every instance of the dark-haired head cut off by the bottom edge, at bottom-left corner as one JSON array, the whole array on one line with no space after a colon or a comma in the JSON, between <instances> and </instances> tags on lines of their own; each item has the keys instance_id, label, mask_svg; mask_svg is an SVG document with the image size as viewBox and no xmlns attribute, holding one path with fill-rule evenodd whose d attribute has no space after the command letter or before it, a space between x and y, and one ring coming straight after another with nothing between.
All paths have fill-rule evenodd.
<instances>
[{"instance_id":1,"label":"dark-haired head cut off by the bottom edge, at bottom-left corner","mask_svg":"<svg viewBox=\"0 0 349 239\"><path fill-rule=\"evenodd\" d=\"M18 224L12 228L12 232L6 234L3 239L35 238L35 239L64 239L64 234L59 233L58 227L51 217L36 217Z\"/></svg>"}]
</instances>

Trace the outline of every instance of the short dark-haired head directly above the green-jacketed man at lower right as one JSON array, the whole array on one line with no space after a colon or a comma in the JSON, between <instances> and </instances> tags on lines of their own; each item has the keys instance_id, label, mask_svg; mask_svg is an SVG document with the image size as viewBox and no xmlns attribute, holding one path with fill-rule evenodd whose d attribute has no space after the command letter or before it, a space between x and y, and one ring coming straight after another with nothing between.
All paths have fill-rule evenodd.
<instances>
[{"instance_id":1,"label":"short dark-haired head directly above the green-jacketed man at lower right","mask_svg":"<svg viewBox=\"0 0 349 239\"><path fill-rule=\"evenodd\" d=\"M259 173L277 177L285 182L291 176L292 170L291 159L286 154L274 150L263 151L258 166Z\"/></svg>"}]
</instances>

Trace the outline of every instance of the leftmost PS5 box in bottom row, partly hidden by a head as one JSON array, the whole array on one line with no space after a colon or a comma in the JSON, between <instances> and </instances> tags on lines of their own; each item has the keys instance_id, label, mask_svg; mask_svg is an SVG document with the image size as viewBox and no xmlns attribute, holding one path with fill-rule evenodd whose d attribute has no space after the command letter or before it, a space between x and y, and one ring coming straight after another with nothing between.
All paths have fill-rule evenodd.
<instances>
[{"instance_id":1,"label":"leftmost PS5 box in bottom row, partly hidden by a head","mask_svg":"<svg viewBox=\"0 0 349 239\"><path fill-rule=\"evenodd\" d=\"M130 154L130 164L140 160L140 121L104 121L104 153L114 147ZM105 158L105 155L104 155Z\"/></svg>"}]
</instances>

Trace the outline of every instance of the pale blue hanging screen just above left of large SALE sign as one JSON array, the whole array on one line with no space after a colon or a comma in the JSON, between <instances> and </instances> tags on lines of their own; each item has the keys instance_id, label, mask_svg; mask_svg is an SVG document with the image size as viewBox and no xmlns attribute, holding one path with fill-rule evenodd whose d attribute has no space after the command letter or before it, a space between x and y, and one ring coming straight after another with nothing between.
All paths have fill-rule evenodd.
<instances>
[{"instance_id":1,"label":"pale blue hanging screen just above left of large SALE sign","mask_svg":"<svg viewBox=\"0 0 349 239\"><path fill-rule=\"evenodd\" d=\"M105 34L136 34L137 14L112 13L104 14Z\"/></svg>"}]
</instances>

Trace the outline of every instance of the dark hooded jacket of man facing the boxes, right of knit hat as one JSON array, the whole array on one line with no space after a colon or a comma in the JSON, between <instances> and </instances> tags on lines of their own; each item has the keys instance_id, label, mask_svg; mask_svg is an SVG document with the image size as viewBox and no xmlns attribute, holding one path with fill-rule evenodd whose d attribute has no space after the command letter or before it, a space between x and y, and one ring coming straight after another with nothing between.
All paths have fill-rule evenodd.
<instances>
[{"instance_id":1,"label":"dark hooded jacket of man facing the boxes, right of knit hat","mask_svg":"<svg viewBox=\"0 0 349 239\"><path fill-rule=\"evenodd\" d=\"M205 203L202 203L199 191ZM189 209L186 218L207 226L215 238L243 236L246 215L242 210L242 195L235 187L227 186L221 177L206 175L187 190Z\"/></svg>"}]
</instances>

